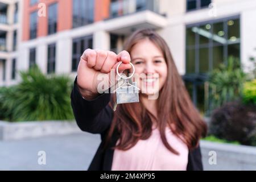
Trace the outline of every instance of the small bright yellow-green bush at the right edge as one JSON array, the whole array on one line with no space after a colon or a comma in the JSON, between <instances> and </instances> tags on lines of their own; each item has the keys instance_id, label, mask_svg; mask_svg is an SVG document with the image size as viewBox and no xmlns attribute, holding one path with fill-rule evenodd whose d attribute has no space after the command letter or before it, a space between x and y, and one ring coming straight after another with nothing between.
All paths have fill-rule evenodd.
<instances>
[{"instance_id":1,"label":"small bright yellow-green bush at the right edge","mask_svg":"<svg viewBox=\"0 0 256 182\"><path fill-rule=\"evenodd\" d=\"M243 84L243 102L256 105L256 79Z\"/></svg>"}]
</instances>

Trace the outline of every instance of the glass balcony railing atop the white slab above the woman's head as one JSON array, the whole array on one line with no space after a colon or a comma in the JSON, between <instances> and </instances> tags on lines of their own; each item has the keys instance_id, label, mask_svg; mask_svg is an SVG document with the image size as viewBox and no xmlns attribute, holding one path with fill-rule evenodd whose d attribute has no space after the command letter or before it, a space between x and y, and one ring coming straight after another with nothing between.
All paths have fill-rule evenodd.
<instances>
[{"instance_id":1,"label":"glass balcony railing atop the white slab above the woman's head","mask_svg":"<svg viewBox=\"0 0 256 182\"><path fill-rule=\"evenodd\" d=\"M158 13L159 0L115 0L110 3L110 18L150 10Z\"/></svg>"}]
</instances>

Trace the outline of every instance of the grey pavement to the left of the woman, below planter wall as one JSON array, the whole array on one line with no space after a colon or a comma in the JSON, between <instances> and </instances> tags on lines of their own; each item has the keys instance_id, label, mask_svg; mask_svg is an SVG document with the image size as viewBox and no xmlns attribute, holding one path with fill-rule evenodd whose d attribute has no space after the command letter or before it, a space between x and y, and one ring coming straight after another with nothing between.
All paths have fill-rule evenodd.
<instances>
[{"instance_id":1,"label":"grey pavement to the left of the woman, below planter wall","mask_svg":"<svg viewBox=\"0 0 256 182\"><path fill-rule=\"evenodd\" d=\"M86 170L100 144L100 135L79 133L0 141L0 170ZM39 151L46 164L38 164Z\"/></svg>"}]
</instances>

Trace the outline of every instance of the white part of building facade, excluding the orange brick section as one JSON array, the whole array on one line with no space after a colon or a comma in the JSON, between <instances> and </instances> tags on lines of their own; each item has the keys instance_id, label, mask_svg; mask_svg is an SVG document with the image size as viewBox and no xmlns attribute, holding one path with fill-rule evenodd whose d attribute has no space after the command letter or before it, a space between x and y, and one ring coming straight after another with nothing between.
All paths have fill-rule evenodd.
<instances>
[{"instance_id":1,"label":"white part of building facade, excluding the orange brick section","mask_svg":"<svg viewBox=\"0 0 256 182\"><path fill-rule=\"evenodd\" d=\"M109 18L27 41L19 39L18 52L0 52L0 57L7 60L6 68L0 60L0 85L19 81L19 77L11 78L13 57L16 71L27 70L34 49L35 63L44 73L67 73L75 77L82 52L78 49L119 52L127 36L143 27L154 28L166 40L193 102L203 113L208 107L205 73L226 63L229 56L240 59L245 69L251 66L250 56L256 52L256 0L126 0L117 6L118 2L110 1ZM9 11L12 9L13 2ZM12 32L14 27L18 25L5 28ZM12 38L8 36L7 48L11 49ZM49 63L51 44L55 51L53 68Z\"/></svg>"}]
</instances>

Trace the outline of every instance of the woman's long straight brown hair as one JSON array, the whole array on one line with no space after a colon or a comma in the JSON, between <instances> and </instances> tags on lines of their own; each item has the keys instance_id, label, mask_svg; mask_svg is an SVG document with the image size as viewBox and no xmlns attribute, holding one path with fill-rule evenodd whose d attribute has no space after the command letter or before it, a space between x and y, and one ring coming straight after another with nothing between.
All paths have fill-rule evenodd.
<instances>
[{"instance_id":1,"label":"woman's long straight brown hair","mask_svg":"<svg viewBox=\"0 0 256 182\"><path fill-rule=\"evenodd\" d=\"M156 119L160 137L164 146L174 154L179 154L166 139L166 127L170 127L172 133L179 137L189 149L199 144L200 137L207 134L207 125L201 118L199 111L193 105L184 82L177 72L167 43L156 32L150 29L135 31L127 40L124 49L131 52L133 46L143 39L149 39L162 50L167 63L167 80L158 97L158 118ZM110 106L113 108L115 96L112 96ZM109 143L115 130L119 133L119 142L113 148L128 150L139 139L147 139L152 131L152 119L150 113L141 102L120 104L114 112L112 125L106 137L105 146Z\"/></svg>"}]
</instances>

